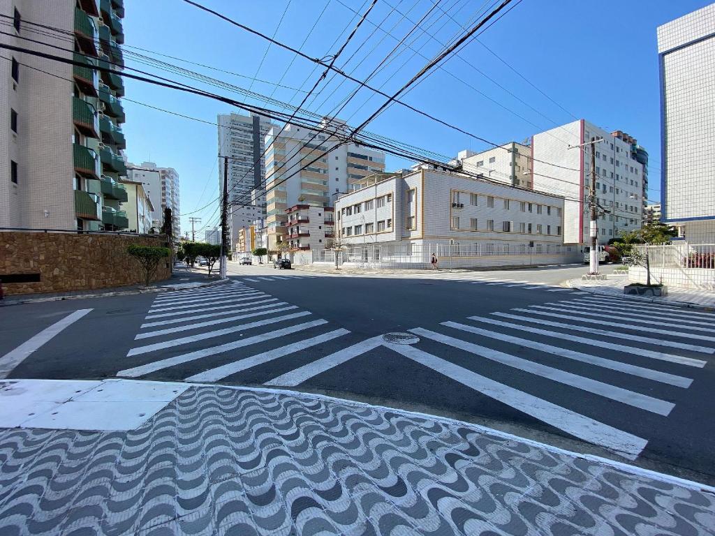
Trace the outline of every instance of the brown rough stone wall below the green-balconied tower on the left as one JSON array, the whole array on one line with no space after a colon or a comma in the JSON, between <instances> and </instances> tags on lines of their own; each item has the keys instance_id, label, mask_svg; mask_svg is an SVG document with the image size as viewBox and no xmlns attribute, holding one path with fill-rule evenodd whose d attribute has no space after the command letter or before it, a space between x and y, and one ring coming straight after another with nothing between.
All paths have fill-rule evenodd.
<instances>
[{"instance_id":1,"label":"brown rough stone wall below the green-balconied tower on the left","mask_svg":"<svg viewBox=\"0 0 715 536\"><path fill-rule=\"evenodd\" d=\"M34 294L143 284L127 254L129 244L167 246L157 235L0 232L0 280L5 294ZM3 276L39 274L39 282L6 282ZM171 259L159 262L155 281L171 277Z\"/></svg>"}]
</instances>

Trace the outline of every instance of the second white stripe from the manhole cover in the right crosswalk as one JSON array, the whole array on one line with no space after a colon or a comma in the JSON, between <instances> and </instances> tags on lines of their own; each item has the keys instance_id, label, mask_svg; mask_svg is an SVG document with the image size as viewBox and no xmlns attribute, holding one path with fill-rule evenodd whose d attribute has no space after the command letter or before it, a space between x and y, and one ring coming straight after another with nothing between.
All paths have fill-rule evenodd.
<instances>
[{"instance_id":1,"label":"second white stripe from the manhole cover in the right crosswalk","mask_svg":"<svg viewBox=\"0 0 715 536\"><path fill-rule=\"evenodd\" d=\"M599 382L596 379L579 376L578 374L566 372L565 370L549 367L546 364L529 361L528 359L522 359L516 355L499 352L498 350L473 344L472 342L463 341L462 339L455 339L454 337L433 332L429 329L418 327L416 329L410 329L410 332L418 334L421 337L441 342L442 344L447 344L453 348L469 352L470 354L475 354L480 357L485 357L486 359L491 359L494 362L505 364L507 367L524 370L536 376L550 379L553 382L570 385L571 387L576 387L576 389L598 394L601 397L616 400L617 402L638 407L641 410L657 413L658 415L669 415L671 410L675 407L672 402L666 402L665 400L649 397L647 394L628 391L628 389L623 389L622 387L616 387L615 385Z\"/></svg>"}]
</instances>

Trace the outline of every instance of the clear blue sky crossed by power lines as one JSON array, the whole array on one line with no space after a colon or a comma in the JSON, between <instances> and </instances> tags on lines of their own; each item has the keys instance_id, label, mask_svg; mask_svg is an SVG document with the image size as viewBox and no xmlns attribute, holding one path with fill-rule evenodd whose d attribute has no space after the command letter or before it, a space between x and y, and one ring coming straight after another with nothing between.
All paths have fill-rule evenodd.
<instances>
[{"instance_id":1,"label":"clear blue sky crossed by power lines","mask_svg":"<svg viewBox=\"0 0 715 536\"><path fill-rule=\"evenodd\" d=\"M363 0L200 1L265 34L276 32L277 40L295 48L305 41L302 51L317 58L334 54L355 25L355 14L350 9L362 13L369 4ZM444 71L436 71L401 99L497 143L521 141L538 131L572 121L574 116L593 121L607 130L621 129L648 149L649 198L659 199L656 27L710 3L705 0L523 0L478 39L514 70L479 42L472 42L460 51L461 59L453 57L445 64L445 69L459 80ZM433 4L434 0L378 0L368 20L337 60L337 66L352 71L356 78L365 79ZM468 26L482 5L480 0L440 0L438 8L420 24L420 28L436 40L422 31L413 31L405 41L411 49L400 49L401 54L393 54L393 60L375 74L370 84L382 87L388 94L399 89L426 63L423 56L431 59L438 54L442 44L463 31L457 23ZM320 76L310 61L295 59L290 51L275 45L267 49L267 41L181 0L125 0L125 6L125 47L129 53L168 54L221 69L216 71L163 58L185 69L263 95L272 94L273 98L292 104L298 104ZM277 27L281 17L282 24ZM314 25L315 29L308 36ZM247 104L266 105L227 89L158 71L132 58L131 54L125 56L129 67L157 72ZM289 65L290 69L286 70ZM252 82L253 77L274 84L280 81L283 86L304 92ZM126 80L125 84L127 99L209 123L215 123L219 113L239 111L212 99L139 81ZM354 89L352 82L342 82L340 76L334 79L328 76L319 86L320 94L310 99L307 107L327 114ZM370 98L370 91L362 89L340 112L340 117L349 119L352 125L360 124L383 101L383 97L374 94ZM124 102L124 109L129 161L152 160L179 172L182 231L190 229L189 216L202 218L197 229L215 224L218 215L215 201L218 197L217 127L131 101ZM368 130L448 156L454 156L461 149L487 147L400 105L390 106L370 123ZM388 169L406 164L408 162L398 158L387 158ZM202 230L197 234L199 237L203 239Z\"/></svg>"}]
</instances>

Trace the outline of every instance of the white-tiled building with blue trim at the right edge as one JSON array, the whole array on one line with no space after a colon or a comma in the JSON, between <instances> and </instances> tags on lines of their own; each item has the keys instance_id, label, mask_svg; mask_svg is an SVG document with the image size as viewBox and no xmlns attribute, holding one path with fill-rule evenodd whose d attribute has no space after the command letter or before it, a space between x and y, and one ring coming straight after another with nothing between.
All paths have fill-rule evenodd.
<instances>
[{"instance_id":1,"label":"white-tiled building with blue trim at the right edge","mask_svg":"<svg viewBox=\"0 0 715 536\"><path fill-rule=\"evenodd\" d=\"M715 4L658 28L662 221L715 242Z\"/></svg>"}]
</instances>

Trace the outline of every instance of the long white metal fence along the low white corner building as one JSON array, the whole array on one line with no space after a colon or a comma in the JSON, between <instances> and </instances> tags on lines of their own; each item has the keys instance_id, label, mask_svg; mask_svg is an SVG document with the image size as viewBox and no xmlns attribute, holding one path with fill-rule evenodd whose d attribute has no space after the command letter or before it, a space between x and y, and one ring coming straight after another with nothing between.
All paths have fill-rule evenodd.
<instances>
[{"instance_id":1,"label":"long white metal fence along the low white corner building","mask_svg":"<svg viewBox=\"0 0 715 536\"><path fill-rule=\"evenodd\" d=\"M578 246L561 244L362 244L339 252L331 249L312 250L312 262L347 264L357 268L430 268L432 254L439 267L465 268L480 266L528 266L550 262L572 262L581 256Z\"/></svg>"}]
</instances>

